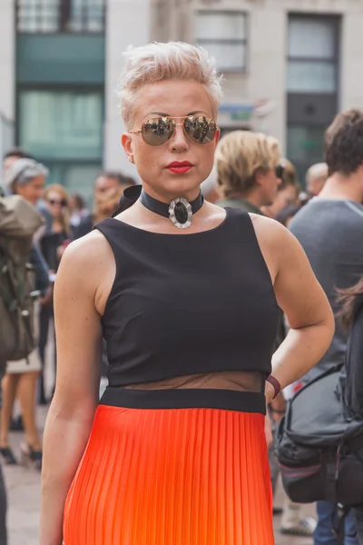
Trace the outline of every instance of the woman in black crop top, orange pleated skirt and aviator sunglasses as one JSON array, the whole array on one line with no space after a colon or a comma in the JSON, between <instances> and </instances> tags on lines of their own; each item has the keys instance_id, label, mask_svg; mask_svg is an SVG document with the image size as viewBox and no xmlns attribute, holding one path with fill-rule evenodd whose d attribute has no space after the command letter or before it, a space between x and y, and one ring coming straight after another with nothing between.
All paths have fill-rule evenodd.
<instances>
[{"instance_id":1,"label":"woman in black crop top, orange pleated skirt and aviator sunglasses","mask_svg":"<svg viewBox=\"0 0 363 545\"><path fill-rule=\"evenodd\" d=\"M207 52L154 43L125 61L142 188L57 274L40 545L272 545L266 403L319 360L331 311L288 230L201 197L220 137ZM271 367L279 304L292 329Z\"/></svg>"}]
</instances>

